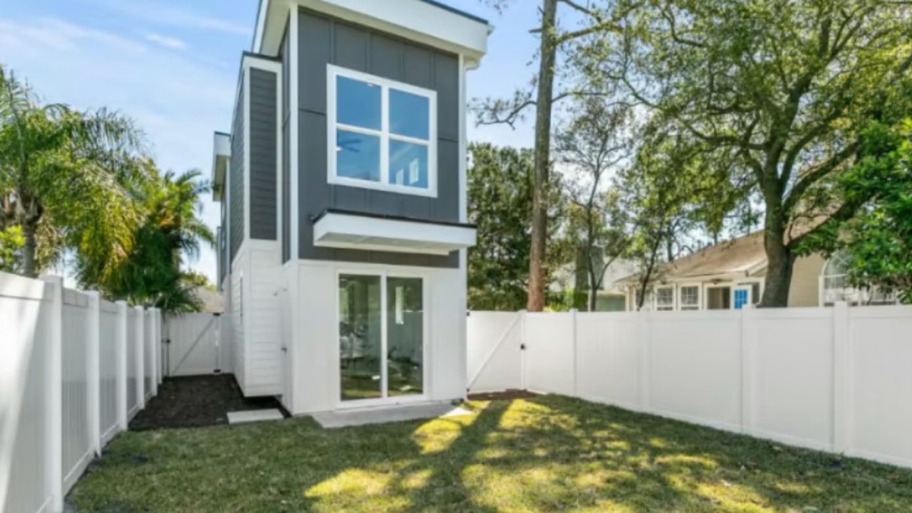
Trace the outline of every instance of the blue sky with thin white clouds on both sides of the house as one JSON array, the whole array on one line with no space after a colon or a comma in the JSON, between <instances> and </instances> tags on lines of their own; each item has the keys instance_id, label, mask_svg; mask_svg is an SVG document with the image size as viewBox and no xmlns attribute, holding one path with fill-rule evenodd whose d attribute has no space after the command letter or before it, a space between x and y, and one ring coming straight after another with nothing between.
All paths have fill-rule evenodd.
<instances>
[{"instance_id":1,"label":"blue sky with thin white clouds on both sides of the house","mask_svg":"<svg viewBox=\"0 0 912 513\"><path fill-rule=\"evenodd\" d=\"M397 2L399 0L383 0ZM258 0L30 0L0 6L0 63L48 102L116 108L147 133L163 169L212 166L212 131L228 131L241 52ZM496 26L469 97L509 97L529 83L536 42L528 0L499 15L482 0L445 0ZM522 7L518 5L523 5ZM532 124L475 128L469 139L531 147ZM214 227L218 205L203 216ZM191 266L215 275L205 250Z\"/></svg>"}]
</instances>

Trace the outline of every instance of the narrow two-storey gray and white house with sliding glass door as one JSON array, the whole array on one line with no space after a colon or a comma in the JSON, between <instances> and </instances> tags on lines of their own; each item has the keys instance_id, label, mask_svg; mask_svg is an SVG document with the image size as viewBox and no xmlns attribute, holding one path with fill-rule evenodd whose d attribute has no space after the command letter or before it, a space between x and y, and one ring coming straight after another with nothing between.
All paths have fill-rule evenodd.
<instances>
[{"instance_id":1,"label":"narrow two-storey gray and white house with sliding glass door","mask_svg":"<svg viewBox=\"0 0 912 513\"><path fill-rule=\"evenodd\" d=\"M466 75L491 30L431 0L261 0L213 164L244 395L465 396Z\"/></svg>"}]
</instances>

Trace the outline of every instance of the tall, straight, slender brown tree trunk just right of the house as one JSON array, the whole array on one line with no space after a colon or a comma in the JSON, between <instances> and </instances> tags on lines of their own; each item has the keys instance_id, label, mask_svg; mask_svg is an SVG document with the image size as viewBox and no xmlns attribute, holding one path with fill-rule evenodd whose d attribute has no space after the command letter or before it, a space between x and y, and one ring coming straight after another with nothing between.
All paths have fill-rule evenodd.
<instances>
[{"instance_id":1,"label":"tall, straight, slender brown tree trunk just right of the house","mask_svg":"<svg viewBox=\"0 0 912 513\"><path fill-rule=\"evenodd\" d=\"M551 167L551 108L554 99L554 46L557 1L544 0L542 10L541 62L535 106L534 193L532 205L532 248L529 255L529 312L544 310L544 253L548 236L548 173Z\"/></svg>"}]
</instances>

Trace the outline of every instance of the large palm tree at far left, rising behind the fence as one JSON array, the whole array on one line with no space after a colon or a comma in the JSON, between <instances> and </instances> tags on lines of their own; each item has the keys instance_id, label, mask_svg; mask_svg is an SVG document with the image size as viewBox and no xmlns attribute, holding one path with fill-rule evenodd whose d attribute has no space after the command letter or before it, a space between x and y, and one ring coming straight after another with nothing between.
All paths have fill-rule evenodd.
<instances>
[{"instance_id":1,"label":"large palm tree at far left, rising behind the fence","mask_svg":"<svg viewBox=\"0 0 912 513\"><path fill-rule=\"evenodd\" d=\"M36 276L64 249L103 260L103 272L126 258L140 220L135 190L148 168L142 151L130 118L41 105L0 67L0 227L22 231L23 274Z\"/></svg>"}]
</instances>

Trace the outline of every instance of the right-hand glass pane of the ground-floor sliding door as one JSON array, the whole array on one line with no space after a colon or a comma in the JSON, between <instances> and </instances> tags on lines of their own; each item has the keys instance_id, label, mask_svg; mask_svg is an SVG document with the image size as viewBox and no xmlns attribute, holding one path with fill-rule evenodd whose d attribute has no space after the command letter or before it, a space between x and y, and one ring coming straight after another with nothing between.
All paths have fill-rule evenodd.
<instances>
[{"instance_id":1,"label":"right-hand glass pane of the ground-floor sliding door","mask_svg":"<svg viewBox=\"0 0 912 513\"><path fill-rule=\"evenodd\" d=\"M424 385L424 298L420 278L387 279L389 396L420 395Z\"/></svg>"}]
</instances>

